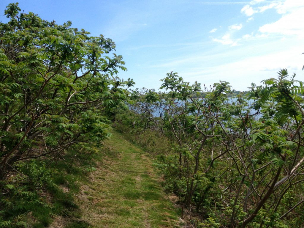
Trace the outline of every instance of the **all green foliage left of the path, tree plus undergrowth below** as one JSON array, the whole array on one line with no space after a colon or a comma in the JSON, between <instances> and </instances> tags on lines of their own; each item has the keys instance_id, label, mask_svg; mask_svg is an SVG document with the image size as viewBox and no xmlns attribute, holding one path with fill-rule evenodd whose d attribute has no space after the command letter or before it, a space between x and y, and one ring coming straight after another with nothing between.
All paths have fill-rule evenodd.
<instances>
[{"instance_id":1,"label":"all green foliage left of the path, tree plus undergrowth below","mask_svg":"<svg viewBox=\"0 0 304 228\"><path fill-rule=\"evenodd\" d=\"M0 227L47 227L54 215L76 213L77 179L95 170L88 157L111 136L109 119L128 108L126 89L135 83L119 79L126 68L122 56L111 54L111 39L24 13L18 3L5 16Z\"/></svg>"}]
</instances>

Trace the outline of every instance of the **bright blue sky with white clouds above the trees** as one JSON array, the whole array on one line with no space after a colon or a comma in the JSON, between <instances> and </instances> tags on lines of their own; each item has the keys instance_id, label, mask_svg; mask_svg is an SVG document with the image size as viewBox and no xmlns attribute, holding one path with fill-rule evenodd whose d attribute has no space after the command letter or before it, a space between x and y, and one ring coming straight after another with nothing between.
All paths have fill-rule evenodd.
<instances>
[{"instance_id":1,"label":"bright blue sky with white clouds above the trees","mask_svg":"<svg viewBox=\"0 0 304 228\"><path fill-rule=\"evenodd\" d=\"M1 0L0 21L12 1ZM19 0L24 12L103 34L116 43L136 88L161 86L167 72L236 90L275 77L281 68L304 81L302 0Z\"/></svg>"}]
</instances>

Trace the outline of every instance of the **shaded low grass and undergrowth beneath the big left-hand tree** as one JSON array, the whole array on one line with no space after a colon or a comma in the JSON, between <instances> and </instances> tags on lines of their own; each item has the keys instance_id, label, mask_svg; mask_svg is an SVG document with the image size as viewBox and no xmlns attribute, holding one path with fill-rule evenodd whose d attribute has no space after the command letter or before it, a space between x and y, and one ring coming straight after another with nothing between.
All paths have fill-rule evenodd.
<instances>
[{"instance_id":1,"label":"shaded low grass and undergrowth beneath the big left-hand tree","mask_svg":"<svg viewBox=\"0 0 304 228\"><path fill-rule=\"evenodd\" d=\"M71 159L75 159L71 165ZM14 175L2 187L0 227L48 227L55 216L64 216L66 227L87 227L75 194L86 183L94 162L87 154L71 156L56 163L32 160L18 163Z\"/></svg>"}]
</instances>

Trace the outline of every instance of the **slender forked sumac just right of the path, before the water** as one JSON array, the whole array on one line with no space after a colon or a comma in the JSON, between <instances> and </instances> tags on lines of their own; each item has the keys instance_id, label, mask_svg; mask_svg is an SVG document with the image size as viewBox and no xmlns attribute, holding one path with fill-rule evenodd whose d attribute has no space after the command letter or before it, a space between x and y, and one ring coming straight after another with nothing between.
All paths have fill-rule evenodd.
<instances>
[{"instance_id":1,"label":"slender forked sumac just right of the path, before the water","mask_svg":"<svg viewBox=\"0 0 304 228\"><path fill-rule=\"evenodd\" d=\"M223 134L218 131L216 117L221 115L226 95L231 92L230 85L228 82L215 83L213 87L204 87L203 92L200 83L190 85L173 72L161 81L161 89L169 90L166 95L168 104L163 107L166 113L164 125L178 145L174 149L178 153L178 163L174 164L174 168L180 171L177 181L182 187L178 188L184 188L179 191L183 192L184 203L189 207L195 193L199 194L199 186L199 192L208 191L214 175L210 175L209 179L205 176L213 163L225 155L215 149ZM202 157L207 157L208 161L202 161ZM197 198L199 207L204 196L200 193Z\"/></svg>"}]
</instances>

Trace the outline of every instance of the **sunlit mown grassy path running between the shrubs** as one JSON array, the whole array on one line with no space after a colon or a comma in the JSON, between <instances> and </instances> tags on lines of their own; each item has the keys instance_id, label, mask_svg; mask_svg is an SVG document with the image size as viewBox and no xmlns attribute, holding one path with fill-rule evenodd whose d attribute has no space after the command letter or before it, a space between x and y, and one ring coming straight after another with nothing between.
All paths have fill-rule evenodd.
<instances>
[{"instance_id":1,"label":"sunlit mown grassy path running between the shrubs","mask_svg":"<svg viewBox=\"0 0 304 228\"><path fill-rule=\"evenodd\" d=\"M78 202L89 227L178 227L180 212L160 188L147 153L118 132L102 152Z\"/></svg>"}]
</instances>

